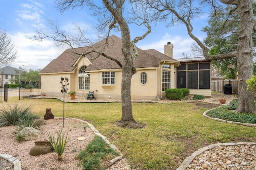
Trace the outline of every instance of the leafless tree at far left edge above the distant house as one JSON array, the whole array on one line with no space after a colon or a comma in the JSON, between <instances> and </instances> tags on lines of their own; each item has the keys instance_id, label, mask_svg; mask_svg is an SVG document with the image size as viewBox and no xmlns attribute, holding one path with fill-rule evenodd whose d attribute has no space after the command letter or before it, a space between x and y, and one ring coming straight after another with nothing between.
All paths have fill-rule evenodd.
<instances>
[{"instance_id":1,"label":"leafless tree at far left edge above the distant house","mask_svg":"<svg viewBox=\"0 0 256 170\"><path fill-rule=\"evenodd\" d=\"M5 30L0 29L0 67L12 63L18 50Z\"/></svg>"}]
</instances>

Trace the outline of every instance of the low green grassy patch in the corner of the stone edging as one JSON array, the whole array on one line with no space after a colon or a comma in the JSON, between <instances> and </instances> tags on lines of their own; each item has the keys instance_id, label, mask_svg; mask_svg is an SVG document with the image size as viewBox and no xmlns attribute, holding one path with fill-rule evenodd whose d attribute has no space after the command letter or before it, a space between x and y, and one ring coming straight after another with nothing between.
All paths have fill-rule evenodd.
<instances>
[{"instance_id":1,"label":"low green grassy patch in the corner of the stone edging","mask_svg":"<svg viewBox=\"0 0 256 170\"><path fill-rule=\"evenodd\" d=\"M81 160L78 166L82 165L83 170L103 170L102 163L118 155L118 152L110 148L101 137L95 136L87 148L76 156L76 159Z\"/></svg>"}]
</instances>

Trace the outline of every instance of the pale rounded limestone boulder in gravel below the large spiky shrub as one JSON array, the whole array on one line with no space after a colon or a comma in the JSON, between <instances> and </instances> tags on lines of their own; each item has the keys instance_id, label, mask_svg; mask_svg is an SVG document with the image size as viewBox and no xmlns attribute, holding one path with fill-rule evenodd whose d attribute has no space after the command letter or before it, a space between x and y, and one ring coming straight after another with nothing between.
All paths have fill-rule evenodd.
<instances>
[{"instance_id":1,"label":"pale rounded limestone boulder in gravel below the large spiky shrub","mask_svg":"<svg viewBox=\"0 0 256 170\"><path fill-rule=\"evenodd\" d=\"M19 135L22 136L23 140L29 141L38 139L41 136L40 131L35 129L34 127L24 127L20 132Z\"/></svg>"}]
</instances>

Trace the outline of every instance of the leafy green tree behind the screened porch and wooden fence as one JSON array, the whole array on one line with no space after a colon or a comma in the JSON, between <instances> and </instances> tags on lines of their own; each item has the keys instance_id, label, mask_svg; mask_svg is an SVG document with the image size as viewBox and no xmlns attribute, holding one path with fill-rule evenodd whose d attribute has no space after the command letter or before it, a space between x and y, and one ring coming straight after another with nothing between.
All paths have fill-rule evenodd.
<instances>
[{"instance_id":1,"label":"leafy green tree behind the screened porch and wooden fence","mask_svg":"<svg viewBox=\"0 0 256 170\"><path fill-rule=\"evenodd\" d=\"M256 16L256 2L253 1L254 17ZM238 44L239 15L238 8L226 6L212 11L208 26L203 30L207 33L204 43L210 49L210 55L217 55L235 51ZM256 43L255 25L253 29L253 42ZM254 47L255 49L255 47ZM255 58L255 53L254 53ZM235 67L230 67L230 65ZM236 57L212 61L212 66L220 70L220 75L225 78L236 78ZM254 70L255 71L255 70Z\"/></svg>"}]
</instances>

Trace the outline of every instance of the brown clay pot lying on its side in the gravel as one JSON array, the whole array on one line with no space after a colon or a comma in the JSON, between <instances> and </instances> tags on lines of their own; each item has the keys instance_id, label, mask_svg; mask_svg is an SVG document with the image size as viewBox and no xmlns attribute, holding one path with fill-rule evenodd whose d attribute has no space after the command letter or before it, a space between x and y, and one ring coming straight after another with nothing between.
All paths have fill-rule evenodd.
<instances>
[{"instance_id":1,"label":"brown clay pot lying on its side in the gravel","mask_svg":"<svg viewBox=\"0 0 256 170\"><path fill-rule=\"evenodd\" d=\"M49 141L36 141L35 145L29 151L29 154L32 156L52 152L52 145Z\"/></svg>"}]
</instances>

